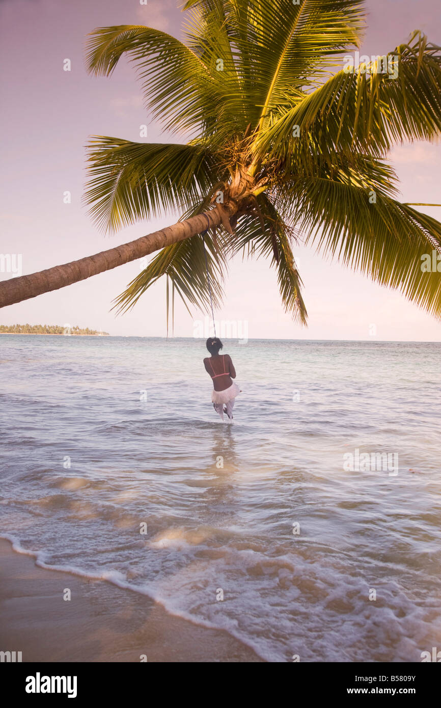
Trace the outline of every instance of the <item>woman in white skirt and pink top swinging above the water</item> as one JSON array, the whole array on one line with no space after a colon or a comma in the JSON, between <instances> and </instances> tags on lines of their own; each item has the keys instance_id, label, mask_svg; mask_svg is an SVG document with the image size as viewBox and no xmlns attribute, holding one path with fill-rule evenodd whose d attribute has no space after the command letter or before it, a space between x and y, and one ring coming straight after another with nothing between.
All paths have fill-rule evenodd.
<instances>
[{"instance_id":1,"label":"woman in white skirt and pink top swinging above the water","mask_svg":"<svg viewBox=\"0 0 441 708\"><path fill-rule=\"evenodd\" d=\"M239 386L231 379L236 378L233 362L228 354L219 355L219 350L223 348L223 344L217 337L207 339L207 349L211 356L204 359L205 371L207 371L213 379L212 404L214 410L219 413L222 421L224 413L230 420L233 420L234 399L240 393ZM224 408L224 405L226 406Z\"/></svg>"}]
</instances>

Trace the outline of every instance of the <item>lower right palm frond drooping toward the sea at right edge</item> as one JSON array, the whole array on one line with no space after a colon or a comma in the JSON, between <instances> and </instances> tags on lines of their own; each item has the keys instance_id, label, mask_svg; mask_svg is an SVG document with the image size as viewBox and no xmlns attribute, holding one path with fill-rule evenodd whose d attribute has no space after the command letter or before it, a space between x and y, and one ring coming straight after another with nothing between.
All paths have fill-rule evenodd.
<instances>
[{"instance_id":1,"label":"lower right palm frond drooping toward the sea at right edge","mask_svg":"<svg viewBox=\"0 0 441 708\"><path fill-rule=\"evenodd\" d=\"M441 319L440 273L421 270L425 254L434 247L441 253L440 222L381 191L329 178L293 186L291 201L291 217L305 244L399 290Z\"/></svg>"}]
</instances>

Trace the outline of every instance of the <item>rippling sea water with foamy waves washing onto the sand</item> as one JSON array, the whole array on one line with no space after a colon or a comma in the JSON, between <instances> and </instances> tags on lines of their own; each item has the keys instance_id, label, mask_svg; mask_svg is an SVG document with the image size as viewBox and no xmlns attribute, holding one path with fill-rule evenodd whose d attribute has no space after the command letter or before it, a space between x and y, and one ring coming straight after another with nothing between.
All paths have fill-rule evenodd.
<instances>
[{"instance_id":1,"label":"rippling sea water with foamy waves washing onto the sand","mask_svg":"<svg viewBox=\"0 0 441 708\"><path fill-rule=\"evenodd\" d=\"M200 340L0 336L0 535L268 661L441 649L441 343L224 351L232 424Z\"/></svg>"}]
</instances>

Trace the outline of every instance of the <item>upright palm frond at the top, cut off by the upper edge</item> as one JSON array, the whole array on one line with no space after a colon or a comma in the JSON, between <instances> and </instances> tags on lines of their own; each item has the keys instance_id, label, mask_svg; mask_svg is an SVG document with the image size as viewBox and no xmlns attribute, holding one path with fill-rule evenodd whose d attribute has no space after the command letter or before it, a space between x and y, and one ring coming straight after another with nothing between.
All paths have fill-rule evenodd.
<instances>
[{"instance_id":1,"label":"upright palm frond at the top, cut off by the upper edge","mask_svg":"<svg viewBox=\"0 0 441 708\"><path fill-rule=\"evenodd\" d=\"M363 0L190 0L184 6L192 13L188 44L205 64L224 57L234 69L222 74L224 114L231 118L246 109L243 127L251 122L262 128L281 105L297 102L302 87L314 84L344 50L359 45L363 5Z\"/></svg>"}]
</instances>

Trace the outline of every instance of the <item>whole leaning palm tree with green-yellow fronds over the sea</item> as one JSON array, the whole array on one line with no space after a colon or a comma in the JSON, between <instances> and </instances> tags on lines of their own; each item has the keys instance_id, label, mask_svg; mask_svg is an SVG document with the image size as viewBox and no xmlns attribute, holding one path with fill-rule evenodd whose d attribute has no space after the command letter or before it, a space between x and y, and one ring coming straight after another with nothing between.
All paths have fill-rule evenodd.
<instances>
[{"instance_id":1,"label":"whole leaning palm tree with green-yellow fronds over the sea","mask_svg":"<svg viewBox=\"0 0 441 708\"><path fill-rule=\"evenodd\" d=\"M146 107L187 144L94 137L86 201L114 232L178 210L181 220L80 261L0 284L0 306L56 290L154 251L117 298L132 307L165 276L186 304L215 306L236 253L270 256L285 309L305 323L292 253L301 237L441 317L441 279L421 258L441 253L441 224L396 200L394 144L441 132L441 48L413 33L384 62L348 71L362 0L188 0L185 43L137 25L98 28L88 71L110 76L122 55ZM415 206L415 205L413 205ZM204 236L205 232L205 236ZM205 251L205 244L207 251ZM207 254L207 271L205 270Z\"/></svg>"}]
</instances>

